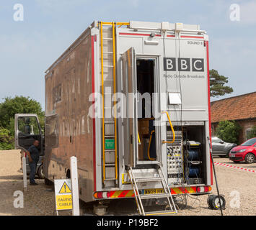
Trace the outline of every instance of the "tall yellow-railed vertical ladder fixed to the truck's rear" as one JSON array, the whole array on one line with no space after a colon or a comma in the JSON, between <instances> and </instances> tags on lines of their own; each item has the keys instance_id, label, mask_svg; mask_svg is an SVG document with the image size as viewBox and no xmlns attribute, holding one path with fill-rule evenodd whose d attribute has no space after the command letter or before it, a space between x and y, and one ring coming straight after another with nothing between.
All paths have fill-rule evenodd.
<instances>
[{"instance_id":1,"label":"tall yellow-railed vertical ladder fixed to the truck's rear","mask_svg":"<svg viewBox=\"0 0 256 230\"><path fill-rule=\"evenodd\" d=\"M124 22L99 22L100 25L100 54L102 75L102 182L114 181L118 184L118 147L116 109L112 116L112 96L116 93L116 54L115 27L128 26ZM103 26L107 26L103 29ZM105 87L107 87L105 90ZM110 98L110 105L105 105L105 97ZM115 106L115 98L114 104ZM115 107L114 107L115 108ZM108 111L108 117L105 116ZM113 156L113 153L115 153ZM108 157L106 157L108 156ZM106 161L107 159L107 161ZM110 160L109 160L110 159ZM107 171L107 173L106 173ZM106 175L107 174L107 175Z\"/></svg>"}]
</instances>

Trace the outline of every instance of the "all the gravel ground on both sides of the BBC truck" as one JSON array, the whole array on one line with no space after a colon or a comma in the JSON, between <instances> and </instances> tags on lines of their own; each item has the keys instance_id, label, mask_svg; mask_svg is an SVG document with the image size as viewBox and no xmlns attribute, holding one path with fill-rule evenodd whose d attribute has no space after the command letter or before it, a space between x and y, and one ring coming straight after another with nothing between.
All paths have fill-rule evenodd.
<instances>
[{"instance_id":1,"label":"all the gravel ground on both sides of the BBC truck","mask_svg":"<svg viewBox=\"0 0 256 230\"><path fill-rule=\"evenodd\" d=\"M256 170L256 163L247 165L236 164L228 158L215 158L215 162L226 163L238 167ZM18 172L20 167L19 151L0 151L0 216L48 216L56 215L55 198L53 188L46 186L43 180L36 180L38 186L28 185L24 192L24 208L14 208L14 191L23 190L22 173ZM225 196L226 210L224 215L255 215L255 188L256 173L236 170L229 167L216 165L220 193ZM239 193L239 208L232 208L234 195L232 191ZM215 185L213 194L216 194ZM220 211L208 209L208 195L187 196L187 206L183 208L180 198L177 203L180 206L179 216L218 216ZM115 204L115 203L113 203ZM120 206L120 203L117 203ZM62 211L61 215L70 215L70 211ZM117 212L113 213L118 215ZM123 214L123 213L122 213Z\"/></svg>"}]
</instances>

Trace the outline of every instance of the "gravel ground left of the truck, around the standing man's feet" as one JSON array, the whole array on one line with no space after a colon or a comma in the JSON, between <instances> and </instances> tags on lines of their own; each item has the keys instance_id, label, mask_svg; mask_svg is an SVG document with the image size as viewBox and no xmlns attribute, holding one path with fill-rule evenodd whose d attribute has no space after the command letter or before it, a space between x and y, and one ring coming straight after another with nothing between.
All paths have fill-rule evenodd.
<instances>
[{"instance_id":1,"label":"gravel ground left of the truck, around the standing man's feet","mask_svg":"<svg viewBox=\"0 0 256 230\"><path fill-rule=\"evenodd\" d=\"M23 174L19 150L0 151L0 216L55 215L54 190L44 180L36 179L38 186L30 186L24 192L24 208L14 208L14 191L23 191ZM65 211L66 212L66 211Z\"/></svg>"}]
</instances>

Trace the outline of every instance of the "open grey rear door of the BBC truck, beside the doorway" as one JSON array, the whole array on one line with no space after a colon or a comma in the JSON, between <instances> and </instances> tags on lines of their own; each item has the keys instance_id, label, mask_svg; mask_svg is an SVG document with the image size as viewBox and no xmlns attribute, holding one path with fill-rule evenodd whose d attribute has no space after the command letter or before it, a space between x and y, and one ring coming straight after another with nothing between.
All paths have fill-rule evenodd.
<instances>
[{"instance_id":1,"label":"open grey rear door of the BBC truck, beside the doorway","mask_svg":"<svg viewBox=\"0 0 256 230\"><path fill-rule=\"evenodd\" d=\"M125 165L136 166L138 155L138 120L137 120L137 80L136 80L136 55L134 48L127 50L122 55L122 81L126 106L123 113L123 147Z\"/></svg>"}]
</instances>

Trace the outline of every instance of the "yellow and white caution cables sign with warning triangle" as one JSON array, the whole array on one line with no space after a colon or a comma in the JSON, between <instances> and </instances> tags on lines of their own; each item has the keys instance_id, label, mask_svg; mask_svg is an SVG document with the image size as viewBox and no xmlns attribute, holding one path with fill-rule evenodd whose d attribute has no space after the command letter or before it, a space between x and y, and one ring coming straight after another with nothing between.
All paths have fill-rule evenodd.
<instances>
[{"instance_id":1,"label":"yellow and white caution cables sign with warning triangle","mask_svg":"<svg viewBox=\"0 0 256 230\"><path fill-rule=\"evenodd\" d=\"M72 209L72 190L71 180L54 180L56 210L70 210Z\"/></svg>"}]
</instances>

